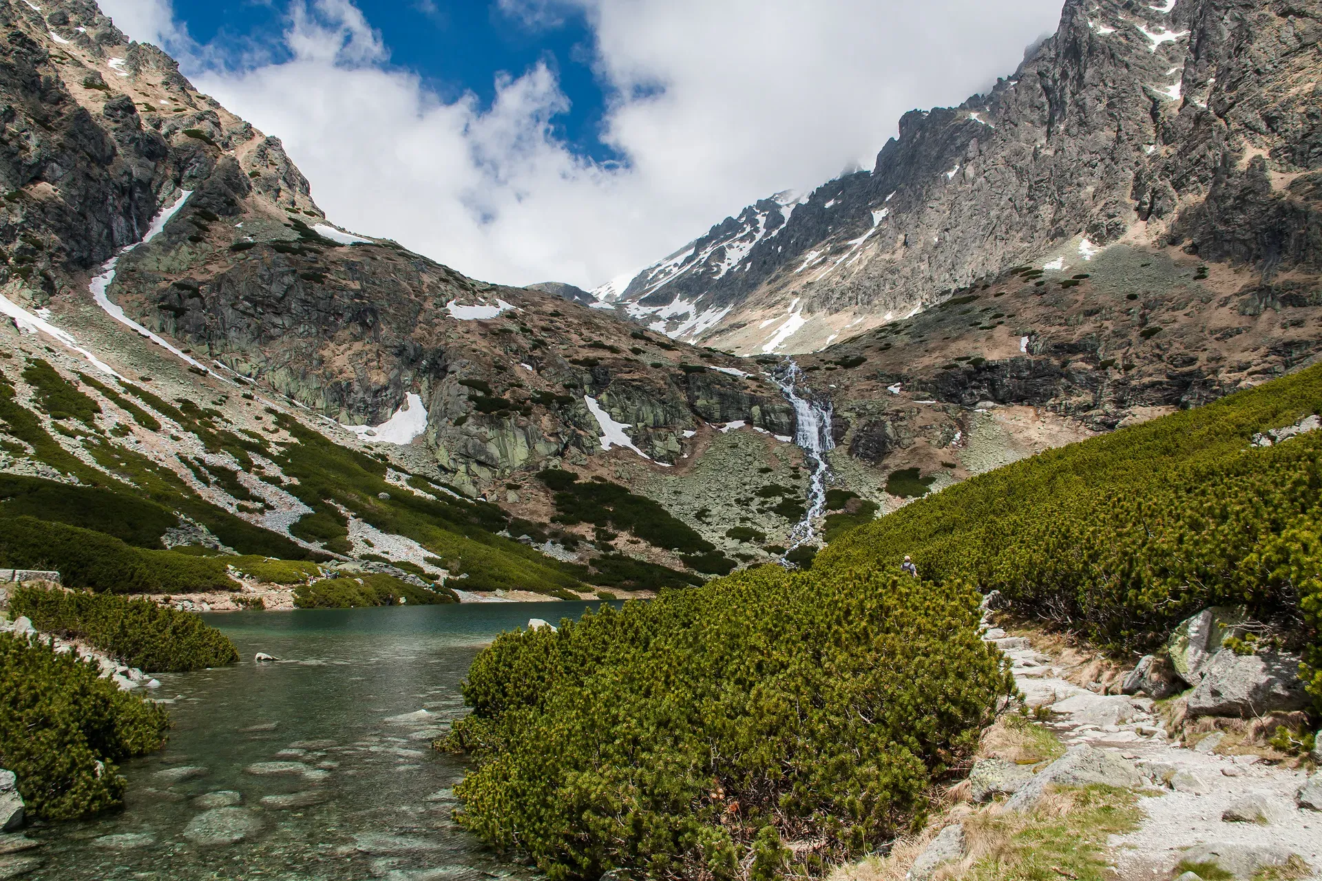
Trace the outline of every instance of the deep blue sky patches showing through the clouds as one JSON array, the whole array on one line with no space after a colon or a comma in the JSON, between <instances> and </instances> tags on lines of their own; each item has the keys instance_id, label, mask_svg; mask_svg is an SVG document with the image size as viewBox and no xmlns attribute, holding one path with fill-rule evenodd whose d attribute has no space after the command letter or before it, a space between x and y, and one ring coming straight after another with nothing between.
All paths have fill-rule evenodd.
<instances>
[{"instance_id":1,"label":"deep blue sky patches showing through the clouds","mask_svg":"<svg viewBox=\"0 0 1322 881\"><path fill-rule=\"evenodd\" d=\"M604 91L592 73L592 32L582 9L566 8L535 24L496 3L446 0L361 0L356 4L389 48L389 65L414 71L443 100L464 92L483 107L496 98L496 75L521 74L538 62L558 77L570 110L554 119L555 133L575 153L620 160L598 137ZM242 65L250 53L275 62L290 50L282 33L288 0L175 0L176 21L188 36Z\"/></svg>"}]
</instances>

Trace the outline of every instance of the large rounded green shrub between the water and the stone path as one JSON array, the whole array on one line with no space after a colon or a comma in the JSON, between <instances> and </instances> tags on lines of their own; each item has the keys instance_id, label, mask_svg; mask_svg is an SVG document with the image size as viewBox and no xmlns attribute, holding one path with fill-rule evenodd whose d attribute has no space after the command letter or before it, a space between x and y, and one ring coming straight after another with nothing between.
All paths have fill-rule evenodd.
<instances>
[{"instance_id":1,"label":"large rounded green shrub between the water and the stone path","mask_svg":"<svg viewBox=\"0 0 1322 881\"><path fill-rule=\"evenodd\" d=\"M477 758L456 819L554 881L821 873L915 828L1013 689L976 623L962 585L761 567L504 634L448 741Z\"/></svg>"}]
</instances>

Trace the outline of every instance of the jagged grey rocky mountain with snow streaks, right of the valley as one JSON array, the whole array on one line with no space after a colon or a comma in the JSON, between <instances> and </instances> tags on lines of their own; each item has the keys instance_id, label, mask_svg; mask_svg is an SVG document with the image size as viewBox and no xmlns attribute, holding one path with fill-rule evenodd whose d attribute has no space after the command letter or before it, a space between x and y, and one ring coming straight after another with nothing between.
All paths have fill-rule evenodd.
<instances>
[{"instance_id":1,"label":"jagged grey rocky mountain with snow streaks, right of the valley","mask_svg":"<svg viewBox=\"0 0 1322 881\"><path fill-rule=\"evenodd\" d=\"M1068 0L990 92L906 114L870 172L594 293L743 354L817 350L1021 265L1097 277L1113 250L1212 265L1210 295L1237 297L1219 316L1311 304L1319 26L1315 3Z\"/></svg>"}]
</instances>

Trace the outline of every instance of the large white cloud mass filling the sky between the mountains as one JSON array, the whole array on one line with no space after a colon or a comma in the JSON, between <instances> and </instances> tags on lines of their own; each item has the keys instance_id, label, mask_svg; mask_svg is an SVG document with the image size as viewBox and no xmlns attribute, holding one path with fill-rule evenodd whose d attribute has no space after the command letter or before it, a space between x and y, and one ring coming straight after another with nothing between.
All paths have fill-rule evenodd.
<instances>
[{"instance_id":1,"label":"large white cloud mass filling the sky between the mountains","mask_svg":"<svg viewBox=\"0 0 1322 881\"><path fill-rule=\"evenodd\" d=\"M611 103L600 166L551 129L551 70L501 75L492 107L389 67L350 0L292 7L279 63L201 61L169 0L102 0L182 55L204 91L279 136L330 218L471 276L583 287L650 263L756 198L871 168L914 107L958 103L1018 63L1060 0L501 0L530 22L578 7Z\"/></svg>"}]
</instances>

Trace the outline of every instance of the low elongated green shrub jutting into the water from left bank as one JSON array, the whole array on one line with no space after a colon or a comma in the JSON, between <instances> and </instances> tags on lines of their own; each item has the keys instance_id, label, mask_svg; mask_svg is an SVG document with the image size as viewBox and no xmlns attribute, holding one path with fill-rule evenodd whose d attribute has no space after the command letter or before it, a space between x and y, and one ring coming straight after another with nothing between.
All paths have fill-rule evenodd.
<instances>
[{"instance_id":1,"label":"low elongated green shrub jutting into the water from left bank","mask_svg":"<svg viewBox=\"0 0 1322 881\"><path fill-rule=\"evenodd\" d=\"M149 600L21 586L9 597L9 609L32 618L38 630L86 639L148 672L223 667L239 659L229 637L196 614Z\"/></svg>"}]
</instances>

